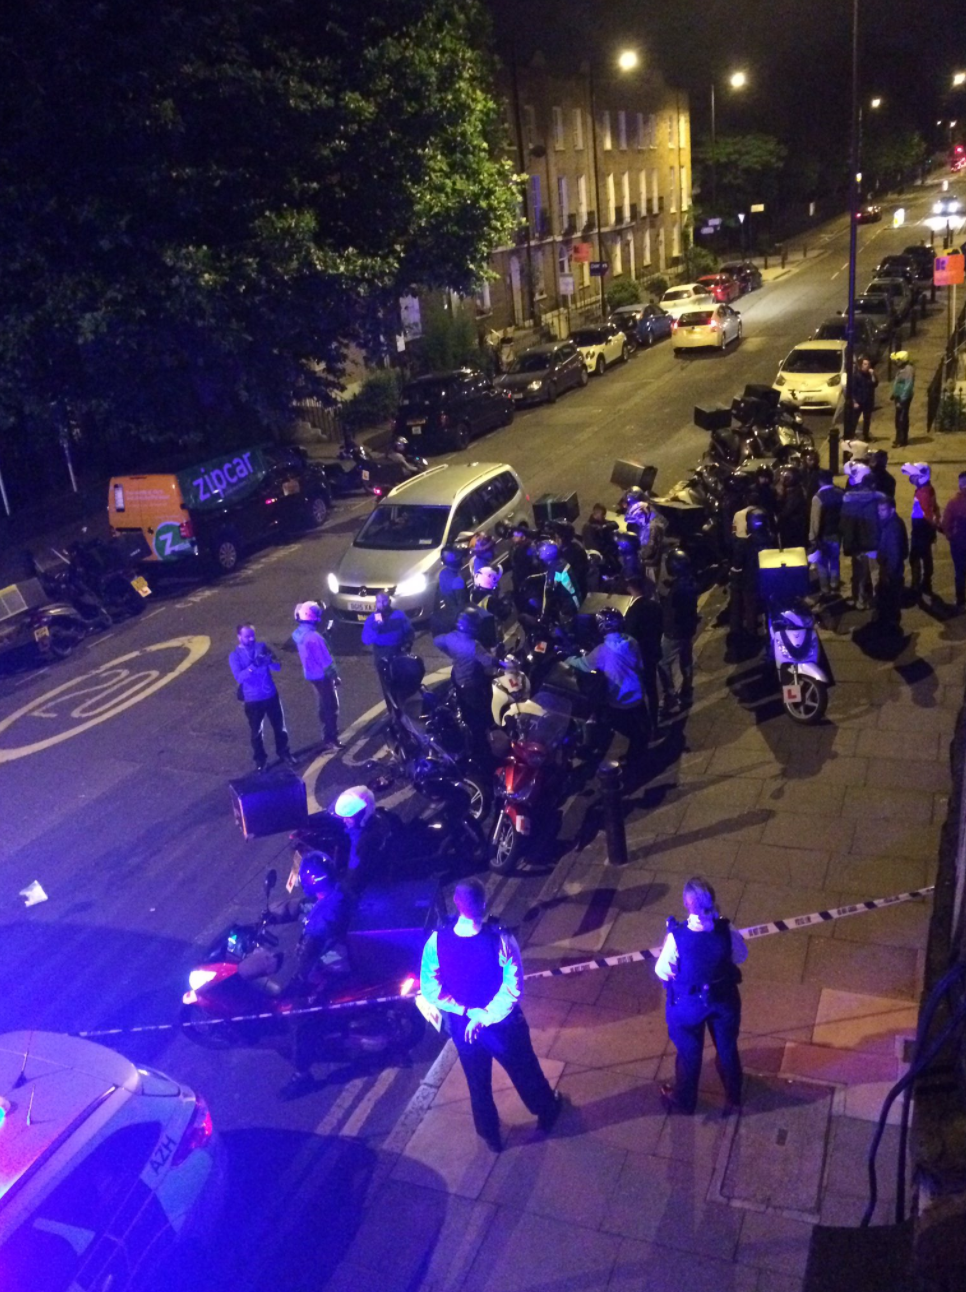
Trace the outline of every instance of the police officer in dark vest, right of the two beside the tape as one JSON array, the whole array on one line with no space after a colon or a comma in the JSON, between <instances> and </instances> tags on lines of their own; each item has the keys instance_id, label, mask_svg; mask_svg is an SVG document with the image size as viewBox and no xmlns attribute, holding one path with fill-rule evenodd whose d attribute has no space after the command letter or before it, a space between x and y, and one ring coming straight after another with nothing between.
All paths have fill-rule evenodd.
<instances>
[{"instance_id":1,"label":"police officer in dark vest, right of the two beside the tape","mask_svg":"<svg viewBox=\"0 0 966 1292\"><path fill-rule=\"evenodd\" d=\"M695 1111L706 1026L717 1050L727 1115L741 1106L737 966L748 959L748 946L728 920L718 915L714 889L701 875L687 881L683 902L687 919L668 917L668 935L655 965L666 988L668 1035L678 1052L674 1084L661 1087L661 1101L669 1112Z\"/></svg>"}]
</instances>

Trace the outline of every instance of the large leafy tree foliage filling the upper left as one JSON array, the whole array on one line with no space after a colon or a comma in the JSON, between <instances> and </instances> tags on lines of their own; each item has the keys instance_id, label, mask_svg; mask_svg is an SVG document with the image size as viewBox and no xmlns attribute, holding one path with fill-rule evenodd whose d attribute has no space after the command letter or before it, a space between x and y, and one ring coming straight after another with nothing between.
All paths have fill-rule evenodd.
<instances>
[{"instance_id":1,"label":"large leafy tree foliage filling the upper left","mask_svg":"<svg viewBox=\"0 0 966 1292\"><path fill-rule=\"evenodd\" d=\"M475 0L31 0L0 36L0 428L279 425L515 222ZM387 317L390 315L390 317Z\"/></svg>"}]
</instances>

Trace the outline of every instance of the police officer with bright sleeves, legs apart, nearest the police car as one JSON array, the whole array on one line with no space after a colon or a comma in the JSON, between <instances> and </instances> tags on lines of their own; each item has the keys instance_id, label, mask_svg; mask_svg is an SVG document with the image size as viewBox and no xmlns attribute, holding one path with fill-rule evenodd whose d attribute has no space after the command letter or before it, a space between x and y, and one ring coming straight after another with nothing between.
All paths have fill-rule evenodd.
<instances>
[{"instance_id":1,"label":"police officer with bright sleeves, legs apart, nearest the police car","mask_svg":"<svg viewBox=\"0 0 966 1292\"><path fill-rule=\"evenodd\" d=\"M562 1097L540 1067L520 1009L523 961L517 939L486 920L479 880L462 880L453 893L456 917L429 935L422 948L420 991L446 1016L470 1092L477 1134L500 1152L500 1115L493 1101L493 1059L541 1130L553 1129Z\"/></svg>"}]
</instances>

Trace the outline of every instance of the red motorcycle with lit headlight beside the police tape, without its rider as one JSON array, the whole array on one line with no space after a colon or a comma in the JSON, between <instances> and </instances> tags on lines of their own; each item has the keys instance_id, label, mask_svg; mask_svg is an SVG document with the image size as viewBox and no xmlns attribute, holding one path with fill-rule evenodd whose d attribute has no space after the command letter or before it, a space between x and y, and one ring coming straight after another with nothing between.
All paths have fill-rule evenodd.
<instances>
[{"instance_id":1,"label":"red motorcycle with lit headlight beside the police tape, without its rider","mask_svg":"<svg viewBox=\"0 0 966 1292\"><path fill-rule=\"evenodd\" d=\"M275 978L284 963L280 939L270 932L278 920L270 906L276 881L276 872L269 871L258 920L227 928L190 972L189 990L181 999L183 1034L208 1049L257 1044L291 1032L293 1012L309 1006L318 1009L310 1017L319 1035L350 1054L411 1049L424 1030L413 997L422 941L435 922L435 885L416 903L426 908L425 928L416 930L417 937L400 938L400 930L380 937L365 928L372 921L356 910L347 933L347 957L323 957L310 974L309 995L298 996ZM363 926L354 930L359 924ZM359 934L355 939L354 932Z\"/></svg>"}]
</instances>

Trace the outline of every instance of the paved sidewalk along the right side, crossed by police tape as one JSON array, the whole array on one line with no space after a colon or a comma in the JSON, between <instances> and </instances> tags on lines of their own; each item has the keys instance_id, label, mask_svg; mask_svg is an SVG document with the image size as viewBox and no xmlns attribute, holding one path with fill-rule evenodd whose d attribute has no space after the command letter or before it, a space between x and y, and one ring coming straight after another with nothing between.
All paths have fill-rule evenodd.
<instances>
[{"instance_id":1,"label":"paved sidewalk along the right side, crossed by police tape","mask_svg":"<svg viewBox=\"0 0 966 1292\"><path fill-rule=\"evenodd\" d=\"M932 463L940 505L966 465L966 434L925 432L943 320L940 300L909 344L920 382L912 443L908 459L890 455L907 519L901 461ZM887 447L891 406L879 390L873 434ZM904 611L894 656L854 636L867 615L827 619L837 685L815 729L784 716L753 664L726 662L713 597L694 709L659 749L664 770L628 805L629 864L610 867L599 837L564 858L520 922L527 969L655 946L695 871L737 925L931 884L966 682L966 618L951 605L943 539L935 587L939 597ZM501 893L497 884L497 911ZM529 983L537 1053L570 1101L558 1128L542 1137L502 1084L509 1134L493 1156L473 1132L448 1047L381 1145L381 1173L328 1288L798 1292L814 1224L854 1226L865 1207L874 1120L916 1027L929 915L920 901L752 943L740 1119L719 1115L710 1052L699 1114L663 1111L673 1048L651 965ZM874 1225L892 1220L896 1152L890 1125Z\"/></svg>"}]
</instances>

